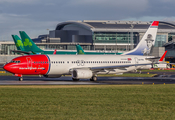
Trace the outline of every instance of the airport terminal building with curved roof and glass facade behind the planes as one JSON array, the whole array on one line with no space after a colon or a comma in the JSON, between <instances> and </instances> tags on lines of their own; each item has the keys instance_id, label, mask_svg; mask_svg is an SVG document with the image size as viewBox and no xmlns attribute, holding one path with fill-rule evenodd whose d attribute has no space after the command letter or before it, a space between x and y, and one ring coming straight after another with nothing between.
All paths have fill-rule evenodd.
<instances>
[{"instance_id":1,"label":"airport terminal building with curved roof and glass facade behind the planes","mask_svg":"<svg viewBox=\"0 0 175 120\"><path fill-rule=\"evenodd\" d=\"M58 23L55 30L34 42L42 49L75 50L80 44L84 50L125 52L132 50L152 22L142 21L67 21ZM27 31L26 31L27 33ZM30 36L30 35L29 35ZM175 39L175 22L160 21L155 47ZM0 42L1 54L14 54L14 42ZM159 50L159 49L157 49ZM158 51L159 52L159 51Z\"/></svg>"}]
</instances>

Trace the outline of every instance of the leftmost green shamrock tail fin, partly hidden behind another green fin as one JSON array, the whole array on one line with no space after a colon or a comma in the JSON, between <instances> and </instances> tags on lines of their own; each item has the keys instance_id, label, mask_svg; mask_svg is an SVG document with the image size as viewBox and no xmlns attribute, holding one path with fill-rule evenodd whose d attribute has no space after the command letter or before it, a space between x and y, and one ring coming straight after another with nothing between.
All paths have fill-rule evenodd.
<instances>
[{"instance_id":1,"label":"leftmost green shamrock tail fin, partly hidden behind another green fin","mask_svg":"<svg viewBox=\"0 0 175 120\"><path fill-rule=\"evenodd\" d=\"M15 42L17 50L25 51L24 45L23 45L23 42L21 41L21 39L17 35L12 35L12 38L13 38L13 40Z\"/></svg>"}]
</instances>

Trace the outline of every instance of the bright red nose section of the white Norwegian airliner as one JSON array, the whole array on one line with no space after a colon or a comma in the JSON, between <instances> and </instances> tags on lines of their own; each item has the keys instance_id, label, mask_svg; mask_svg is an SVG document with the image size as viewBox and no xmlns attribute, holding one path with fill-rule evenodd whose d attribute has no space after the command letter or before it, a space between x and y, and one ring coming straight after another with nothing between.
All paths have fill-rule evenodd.
<instances>
[{"instance_id":1,"label":"bright red nose section of the white Norwegian airliner","mask_svg":"<svg viewBox=\"0 0 175 120\"><path fill-rule=\"evenodd\" d=\"M26 55L14 58L12 61L20 62L10 62L4 66L4 69L14 74L45 75L49 70L49 60L46 55Z\"/></svg>"}]
</instances>

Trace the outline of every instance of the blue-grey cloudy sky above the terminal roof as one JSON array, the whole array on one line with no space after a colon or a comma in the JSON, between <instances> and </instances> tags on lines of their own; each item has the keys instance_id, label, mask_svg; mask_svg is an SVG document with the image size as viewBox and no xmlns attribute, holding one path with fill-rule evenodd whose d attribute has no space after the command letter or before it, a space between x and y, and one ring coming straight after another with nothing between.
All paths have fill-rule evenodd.
<instances>
[{"instance_id":1,"label":"blue-grey cloudy sky above the terminal roof","mask_svg":"<svg viewBox=\"0 0 175 120\"><path fill-rule=\"evenodd\" d=\"M0 41L48 34L69 20L175 21L175 0L0 0Z\"/></svg>"}]
</instances>

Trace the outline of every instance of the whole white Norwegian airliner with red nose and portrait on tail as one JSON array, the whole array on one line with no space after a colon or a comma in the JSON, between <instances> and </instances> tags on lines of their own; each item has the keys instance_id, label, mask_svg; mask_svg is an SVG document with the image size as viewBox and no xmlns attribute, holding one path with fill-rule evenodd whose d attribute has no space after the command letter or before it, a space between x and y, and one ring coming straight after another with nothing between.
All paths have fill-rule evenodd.
<instances>
[{"instance_id":1,"label":"whole white Norwegian airliner with red nose and portrait on tail","mask_svg":"<svg viewBox=\"0 0 175 120\"><path fill-rule=\"evenodd\" d=\"M22 75L61 77L72 75L73 80L97 80L98 74L116 74L152 64L157 59L148 55L155 42L158 21L154 21L138 46L125 55L26 55L14 58L4 69L23 80ZM133 55L133 54L139 55ZM166 52L159 61L163 61Z\"/></svg>"}]
</instances>

